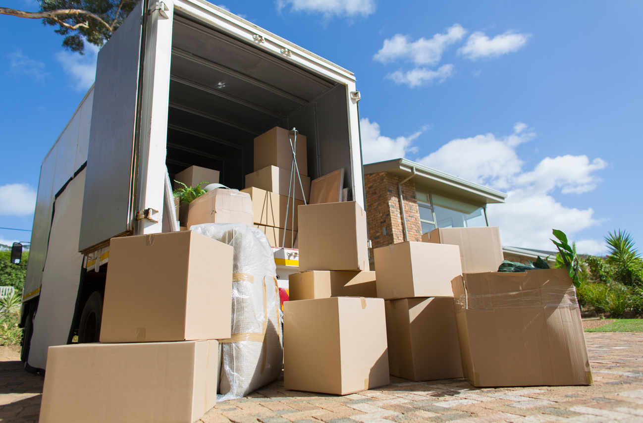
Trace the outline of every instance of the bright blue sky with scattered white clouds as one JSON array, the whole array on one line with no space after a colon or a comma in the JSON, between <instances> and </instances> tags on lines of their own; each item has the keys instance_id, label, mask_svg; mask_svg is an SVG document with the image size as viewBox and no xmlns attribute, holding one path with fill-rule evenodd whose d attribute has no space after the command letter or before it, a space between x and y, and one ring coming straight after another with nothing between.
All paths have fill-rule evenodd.
<instances>
[{"instance_id":1,"label":"bright blue sky with scattered white clouds","mask_svg":"<svg viewBox=\"0 0 643 423\"><path fill-rule=\"evenodd\" d=\"M509 192L488 212L503 244L550 249L551 228L588 253L619 228L643 242L642 2L223 5L355 73L366 163L404 156ZM80 57L52 27L0 19L0 226L31 229L41 161L96 49ZM0 243L28 239L0 230Z\"/></svg>"}]
</instances>

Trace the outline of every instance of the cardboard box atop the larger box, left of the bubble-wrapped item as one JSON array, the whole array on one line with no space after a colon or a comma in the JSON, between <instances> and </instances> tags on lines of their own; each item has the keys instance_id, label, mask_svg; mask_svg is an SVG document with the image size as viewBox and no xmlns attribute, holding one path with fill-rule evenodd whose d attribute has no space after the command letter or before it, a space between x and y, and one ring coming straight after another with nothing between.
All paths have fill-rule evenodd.
<instances>
[{"instance_id":1,"label":"cardboard box atop the larger box, left of the bubble-wrapped item","mask_svg":"<svg viewBox=\"0 0 643 423\"><path fill-rule=\"evenodd\" d=\"M232 247L194 231L111 239L100 342L230 338Z\"/></svg>"}]
</instances>

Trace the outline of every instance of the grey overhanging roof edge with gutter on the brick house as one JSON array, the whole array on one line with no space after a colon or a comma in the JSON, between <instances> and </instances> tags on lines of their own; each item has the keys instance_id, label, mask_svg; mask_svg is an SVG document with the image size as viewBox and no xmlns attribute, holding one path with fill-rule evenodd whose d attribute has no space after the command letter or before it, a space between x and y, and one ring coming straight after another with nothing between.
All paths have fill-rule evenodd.
<instances>
[{"instance_id":1,"label":"grey overhanging roof edge with gutter on the brick house","mask_svg":"<svg viewBox=\"0 0 643 423\"><path fill-rule=\"evenodd\" d=\"M507 194L504 192L407 159L393 159L364 165L364 174L390 172L406 178L413 175L413 168L415 168L415 176L411 179L415 182L416 188L426 187L432 194L455 195L478 204L504 203L507 198Z\"/></svg>"}]
</instances>

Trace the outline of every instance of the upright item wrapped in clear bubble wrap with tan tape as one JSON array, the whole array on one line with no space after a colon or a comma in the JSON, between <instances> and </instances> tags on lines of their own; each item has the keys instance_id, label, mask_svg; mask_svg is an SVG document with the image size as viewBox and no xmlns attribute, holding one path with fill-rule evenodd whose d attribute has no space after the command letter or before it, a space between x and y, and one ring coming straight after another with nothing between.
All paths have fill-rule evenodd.
<instances>
[{"instance_id":1,"label":"upright item wrapped in clear bubble wrap with tan tape","mask_svg":"<svg viewBox=\"0 0 643 423\"><path fill-rule=\"evenodd\" d=\"M190 230L233 247L232 336L222 339L220 395L227 401L274 381L284 357L273 251L262 231L242 223L206 223Z\"/></svg>"}]
</instances>

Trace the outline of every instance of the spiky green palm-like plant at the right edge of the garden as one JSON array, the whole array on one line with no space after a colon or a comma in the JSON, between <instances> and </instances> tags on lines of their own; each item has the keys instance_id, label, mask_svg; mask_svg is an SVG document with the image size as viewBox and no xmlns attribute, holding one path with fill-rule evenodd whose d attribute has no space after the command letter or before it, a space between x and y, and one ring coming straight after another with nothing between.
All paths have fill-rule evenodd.
<instances>
[{"instance_id":1,"label":"spiky green palm-like plant at the right edge of the garden","mask_svg":"<svg viewBox=\"0 0 643 423\"><path fill-rule=\"evenodd\" d=\"M614 231L605 237L608 244L608 264L615 271L615 278L625 285L633 286L643 282L643 260L634 247L634 240L626 231Z\"/></svg>"}]
</instances>

